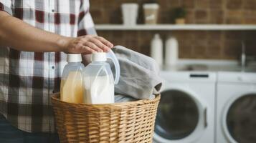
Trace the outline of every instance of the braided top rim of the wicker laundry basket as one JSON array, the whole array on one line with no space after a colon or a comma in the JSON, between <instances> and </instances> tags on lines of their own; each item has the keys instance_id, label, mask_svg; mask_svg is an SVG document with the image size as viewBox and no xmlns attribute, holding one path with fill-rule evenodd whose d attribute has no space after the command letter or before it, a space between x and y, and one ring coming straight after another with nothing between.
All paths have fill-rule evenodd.
<instances>
[{"instance_id":1,"label":"braided top rim of the wicker laundry basket","mask_svg":"<svg viewBox=\"0 0 256 143\"><path fill-rule=\"evenodd\" d=\"M60 102L62 104L70 104L70 105L82 105L82 106L115 106L115 105L124 105L124 104L140 104L141 102L143 103L148 103L148 102L156 102L158 100L160 100L161 95L160 94L156 94L156 97L154 99L138 99L136 101L131 101L131 102L117 102L117 103L112 103L112 104L84 104L84 103L80 103L80 104L76 104L76 103L70 103L70 102L63 102L62 100L60 100L60 92L54 93L51 95L51 99L54 100L55 102Z\"/></svg>"}]
</instances>

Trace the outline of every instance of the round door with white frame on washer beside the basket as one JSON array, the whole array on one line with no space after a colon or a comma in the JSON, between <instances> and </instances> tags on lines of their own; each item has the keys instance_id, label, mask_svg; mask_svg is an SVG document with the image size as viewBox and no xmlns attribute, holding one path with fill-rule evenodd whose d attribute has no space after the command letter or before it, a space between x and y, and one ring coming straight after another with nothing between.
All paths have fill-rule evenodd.
<instances>
[{"instance_id":1,"label":"round door with white frame on washer beside the basket","mask_svg":"<svg viewBox=\"0 0 256 143\"><path fill-rule=\"evenodd\" d=\"M207 106L185 87L161 92L154 139L161 143L194 142L207 127Z\"/></svg>"}]
</instances>

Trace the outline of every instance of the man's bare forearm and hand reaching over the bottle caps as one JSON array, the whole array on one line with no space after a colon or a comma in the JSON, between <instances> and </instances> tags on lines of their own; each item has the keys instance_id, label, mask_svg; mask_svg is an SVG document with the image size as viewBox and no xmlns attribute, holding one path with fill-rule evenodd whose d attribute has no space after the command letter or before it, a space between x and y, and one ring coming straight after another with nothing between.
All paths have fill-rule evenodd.
<instances>
[{"instance_id":1,"label":"man's bare forearm and hand reaching over the bottle caps","mask_svg":"<svg viewBox=\"0 0 256 143\"><path fill-rule=\"evenodd\" d=\"M0 19L0 46L11 46L20 51L92 54L99 51L107 52L113 47L113 44L100 36L71 38L43 31L4 11L0 11Z\"/></svg>"}]
</instances>

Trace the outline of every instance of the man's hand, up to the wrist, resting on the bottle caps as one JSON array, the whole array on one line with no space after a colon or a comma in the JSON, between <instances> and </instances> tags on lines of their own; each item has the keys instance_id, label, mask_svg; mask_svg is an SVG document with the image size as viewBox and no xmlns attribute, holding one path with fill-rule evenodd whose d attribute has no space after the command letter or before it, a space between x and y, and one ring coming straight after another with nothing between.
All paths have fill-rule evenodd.
<instances>
[{"instance_id":1,"label":"man's hand, up to the wrist, resting on the bottle caps","mask_svg":"<svg viewBox=\"0 0 256 143\"><path fill-rule=\"evenodd\" d=\"M65 53L92 54L94 52L108 52L113 47L110 41L101 36L79 36L77 38L61 39L62 51Z\"/></svg>"}]
</instances>

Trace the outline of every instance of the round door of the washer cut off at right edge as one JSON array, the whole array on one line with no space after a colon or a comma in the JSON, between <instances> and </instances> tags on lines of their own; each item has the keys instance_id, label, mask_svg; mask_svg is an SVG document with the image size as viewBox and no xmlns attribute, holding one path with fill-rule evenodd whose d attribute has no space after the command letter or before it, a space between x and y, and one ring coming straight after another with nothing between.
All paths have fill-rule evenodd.
<instances>
[{"instance_id":1,"label":"round door of the washer cut off at right edge","mask_svg":"<svg viewBox=\"0 0 256 143\"><path fill-rule=\"evenodd\" d=\"M222 127L229 142L256 142L256 91L240 93L225 104Z\"/></svg>"}]
</instances>

